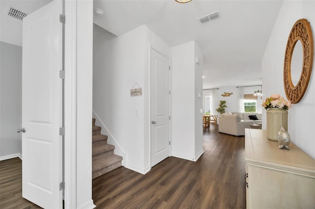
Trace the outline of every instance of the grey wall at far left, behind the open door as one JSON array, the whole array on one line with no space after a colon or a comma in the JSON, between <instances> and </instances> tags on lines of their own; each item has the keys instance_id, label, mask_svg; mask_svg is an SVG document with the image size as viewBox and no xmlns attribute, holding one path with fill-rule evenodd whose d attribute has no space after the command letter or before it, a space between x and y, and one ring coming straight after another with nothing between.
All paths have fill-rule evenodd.
<instances>
[{"instance_id":1,"label":"grey wall at far left, behind the open door","mask_svg":"<svg viewBox=\"0 0 315 209\"><path fill-rule=\"evenodd\" d=\"M0 160L22 153L22 47L0 42Z\"/></svg>"}]
</instances>

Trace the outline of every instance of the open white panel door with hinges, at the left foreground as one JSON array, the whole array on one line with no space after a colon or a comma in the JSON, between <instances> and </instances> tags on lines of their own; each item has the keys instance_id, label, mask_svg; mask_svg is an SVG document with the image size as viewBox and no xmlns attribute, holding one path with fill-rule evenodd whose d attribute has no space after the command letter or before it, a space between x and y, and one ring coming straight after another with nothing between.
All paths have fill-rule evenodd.
<instances>
[{"instance_id":1,"label":"open white panel door with hinges, at the left foreground","mask_svg":"<svg viewBox=\"0 0 315 209\"><path fill-rule=\"evenodd\" d=\"M62 1L23 20L22 196L45 209L62 208Z\"/></svg>"}]
</instances>

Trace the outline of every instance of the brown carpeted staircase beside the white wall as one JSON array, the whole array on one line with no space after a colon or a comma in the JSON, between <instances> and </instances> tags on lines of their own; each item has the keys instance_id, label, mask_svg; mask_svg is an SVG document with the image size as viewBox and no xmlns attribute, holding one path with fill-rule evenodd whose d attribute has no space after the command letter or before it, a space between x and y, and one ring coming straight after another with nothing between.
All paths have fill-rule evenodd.
<instances>
[{"instance_id":1,"label":"brown carpeted staircase beside the white wall","mask_svg":"<svg viewBox=\"0 0 315 209\"><path fill-rule=\"evenodd\" d=\"M92 119L92 179L122 166L123 157L114 154L115 146L107 144L107 135L100 133Z\"/></svg>"}]
</instances>

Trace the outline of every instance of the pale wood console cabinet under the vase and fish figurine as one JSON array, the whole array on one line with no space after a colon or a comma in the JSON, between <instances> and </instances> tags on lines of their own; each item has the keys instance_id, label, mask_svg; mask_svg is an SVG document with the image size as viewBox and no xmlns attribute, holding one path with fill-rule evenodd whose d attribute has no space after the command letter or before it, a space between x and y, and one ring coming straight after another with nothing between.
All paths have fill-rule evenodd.
<instances>
[{"instance_id":1,"label":"pale wood console cabinet under the vase and fish figurine","mask_svg":"<svg viewBox=\"0 0 315 209\"><path fill-rule=\"evenodd\" d=\"M315 159L278 146L266 130L245 130L247 208L315 209Z\"/></svg>"}]
</instances>

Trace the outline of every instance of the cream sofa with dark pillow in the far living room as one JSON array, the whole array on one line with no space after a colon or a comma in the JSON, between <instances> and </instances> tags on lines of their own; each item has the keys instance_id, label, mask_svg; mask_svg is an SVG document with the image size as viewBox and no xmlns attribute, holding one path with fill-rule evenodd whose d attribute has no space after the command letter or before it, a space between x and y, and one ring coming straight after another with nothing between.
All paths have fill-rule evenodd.
<instances>
[{"instance_id":1,"label":"cream sofa with dark pillow in the far living room","mask_svg":"<svg viewBox=\"0 0 315 209\"><path fill-rule=\"evenodd\" d=\"M250 120L249 115L256 115L258 120ZM241 117L242 116L242 117ZM252 124L261 123L261 114L248 112L223 113L219 117L219 132L235 136L245 135L245 129L250 129Z\"/></svg>"}]
</instances>

